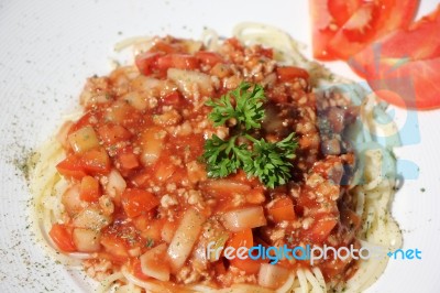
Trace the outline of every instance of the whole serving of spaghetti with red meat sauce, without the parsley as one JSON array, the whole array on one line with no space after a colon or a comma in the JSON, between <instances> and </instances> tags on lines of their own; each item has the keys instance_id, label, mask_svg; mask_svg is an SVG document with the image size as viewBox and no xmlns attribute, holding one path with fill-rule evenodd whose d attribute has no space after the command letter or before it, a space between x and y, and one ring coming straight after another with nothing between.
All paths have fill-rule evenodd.
<instances>
[{"instance_id":1,"label":"whole serving of spaghetti with red meat sauce, without the parsley","mask_svg":"<svg viewBox=\"0 0 440 293\"><path fill-rule=\"evenodd\" d=\"M134 46L136 67L89 79L80 97L85 112L70 118L58 140L34 158L31 189L40 238L61 262L82 263L101 281L100 291L360 292L385 270L386 251L402 245L389 213L396 141L376 139L393 134L395 127L375 121L374 96L364 98L363 88L307 61L275 28L243 23L233 34L237 39L226 41L207 31L204 42L119 43L118 50ZM204 138L229 135L228 128L207 122L205 101L243 79L266 89L266 137L280 140L288 129L299 135L288 186L267 189L241 172L209 180L200 169ZM348 121L336 130L332 117ZM267 225L246 226L251 217L240 231L224 228L227 211L240 217L256 206L264 208ZM185 221L194 227L185 230ZM381 247L385 253L378 260L314 265L284 261L276 265L284 276L266 280L264 287L262 262L202 253L208 240L224 246L243 239L266 246Z\"/></svg>"}]
</instances>

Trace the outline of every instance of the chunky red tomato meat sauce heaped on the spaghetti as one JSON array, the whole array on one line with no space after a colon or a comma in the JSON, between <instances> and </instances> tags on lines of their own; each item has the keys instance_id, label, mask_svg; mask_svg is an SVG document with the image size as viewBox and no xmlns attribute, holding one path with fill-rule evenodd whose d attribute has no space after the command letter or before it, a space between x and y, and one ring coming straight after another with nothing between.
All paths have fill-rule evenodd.
<instances>
[{"instance_id":1,"label":"chunky red tomato meat sauce heaped on the spaghetti","mask_svg":"<svg viewBox=\"0 0 440 293\"><path fill-rule=\"evenodd\" d=\"M62 228L54 225L52 238L61 250L92 253L88 267L106 260L111 263L106 273L125 267L139 279L152 280L141 270L140 257L158 245L170 246L184 215L195 209L205 219L201 232L184 265L169 265L169 281L208 281L219 287L242 282L241 271L249 276L245 282L255 283L258 265L267 262L209 260L197 253L209 241L240 242L222 219L231 210L263 208L266 225L246 228L254 243L355 243L356 229L345 229L351 221L340 215L359 219L349 213L352 203L340 185L342 174L332 175L334 170L343 172L342 165L353 167L354 155L350 150L321 152L319 105L308 77L305 69L277 65L272 50L245 47L235 39L208 52L197 42L164 37L141 53L135 66L89 78L80 97L85 113L62 139L67 159L57 165L79 192L63 195L67 220ZM206 100L241 80L264 85L268 97L261 135L282 140L295 131L298 137L293 181L275 189L241 171L209 178L200 161L208 138L230 134L227 127L216 128L208 120ZM163 261L169 260L164 256ZM322 260L316 265L327 280L344 279L353 261L333 264ZM280 265L309 264L283 260Z\"/></svg>"}]
</instances>

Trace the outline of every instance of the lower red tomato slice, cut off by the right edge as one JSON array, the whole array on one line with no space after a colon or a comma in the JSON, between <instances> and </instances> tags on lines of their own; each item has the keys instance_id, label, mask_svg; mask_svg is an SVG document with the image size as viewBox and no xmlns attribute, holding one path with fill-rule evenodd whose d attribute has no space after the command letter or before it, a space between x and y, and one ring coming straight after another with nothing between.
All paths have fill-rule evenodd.
<instances>
[{"instance_id":1,"label":"lower red tomato slice, cut off by the right edge","mask_svg":"<svg viewBox=\"0 0 440 293\"><path fill-rule=\"evenodd\" d=\"M440 6L350 59L382 99L403 108L440 107Z\"/></svg>"}]
</instances>

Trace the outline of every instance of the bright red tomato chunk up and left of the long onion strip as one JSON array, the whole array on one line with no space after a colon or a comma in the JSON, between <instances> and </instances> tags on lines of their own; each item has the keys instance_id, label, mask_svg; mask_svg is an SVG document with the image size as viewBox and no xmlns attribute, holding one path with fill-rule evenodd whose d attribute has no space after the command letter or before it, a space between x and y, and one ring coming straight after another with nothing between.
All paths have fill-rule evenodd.
<instances>
[{"instance_id":1,"label":"bright red tomato chunk up and left of the long onion strip","mask_svg":"<svg viewBox=\"0 0 440 293\"><path fill-rule=\"evenodd\" d=\"M130 218L147 213L158 204L158 199L146 191L127 188L122 194L122 206Z\"/></svg>"}]
</instances>

